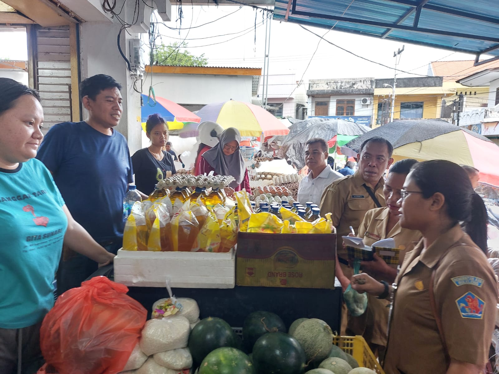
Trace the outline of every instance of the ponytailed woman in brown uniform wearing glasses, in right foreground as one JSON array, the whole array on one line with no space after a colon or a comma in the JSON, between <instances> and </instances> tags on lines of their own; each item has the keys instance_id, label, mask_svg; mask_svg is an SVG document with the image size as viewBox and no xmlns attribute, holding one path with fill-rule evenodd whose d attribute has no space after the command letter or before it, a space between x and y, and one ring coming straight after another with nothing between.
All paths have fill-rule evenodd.
<instances>
[{"instance_id":1,"label":"ponytailed woman in brown uniform wearing glasses, in right foreground","mask_svg":"<svg viewBox=\"0 0 499 374\"><path fill-rule=\"evenodd\" d=\"M498 285L487 262L487 213L466 172L448 161L417 164L402 190L400 224L423 240L406 255L396 284L366 273L352 287L394 295L387 374L478 374L488 360ZM459 222L465 222L466 232Z\"/></svg>"}]
</instances>

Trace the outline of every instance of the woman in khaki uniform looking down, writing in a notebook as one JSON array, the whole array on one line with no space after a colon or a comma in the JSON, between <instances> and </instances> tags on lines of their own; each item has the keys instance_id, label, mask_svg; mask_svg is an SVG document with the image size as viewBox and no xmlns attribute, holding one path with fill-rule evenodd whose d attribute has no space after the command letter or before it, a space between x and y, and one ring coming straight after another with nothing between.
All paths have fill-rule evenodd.
<instances>
[{"instance_id":1,"label":"woman in khaki uniform looking down, writing in a notebook","mask_svg":"<svg viewBox=\"0 0 499 374\"><path fill-rule=\"evenodd\" d=\"M417 230L402 228L399 222L400 190L416 163L416 160L406 159L393 164L383 187L388 206L368 210L357 234L366 245L372 245L381 239L393 238L395 246L401 249L398 262L400 265L405 254L414 247L414 242L418 242L422 236ZM374 254L374 261L361 262L361 269L377 280L384 280L390 284L397 276L397 265L388 265L377 254ZM380 300L369 295L366 312L359 317L350 316L348 319L348 330L354 335L362 335L371 350L380 358L384 356L387 340L387 305L388 300Z\"/></svg>"}]
</instances>

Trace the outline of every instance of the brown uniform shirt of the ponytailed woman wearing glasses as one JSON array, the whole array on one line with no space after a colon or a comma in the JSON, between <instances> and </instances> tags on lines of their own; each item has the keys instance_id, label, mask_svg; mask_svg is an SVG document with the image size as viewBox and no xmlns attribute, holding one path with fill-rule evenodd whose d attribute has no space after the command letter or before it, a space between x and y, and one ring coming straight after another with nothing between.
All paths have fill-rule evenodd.
<instances>
[{"instance_id":1,"label":"brown uniform shirt of the ponytailed woman wearing glasses","mask_svg":"<svg viewBox=\"0 0 499 374\"><path fill-rule=\"evenodd\" d=\"M468 245L459 245L462 243ZM449 356L484 365L498 302L498 284L486 256L459 225L441 235L424 252L422 249L421 241L406 256L396 280L386 374L447 371L428 291L435 267L435 303Z\"/></svg>"}]
</instances>

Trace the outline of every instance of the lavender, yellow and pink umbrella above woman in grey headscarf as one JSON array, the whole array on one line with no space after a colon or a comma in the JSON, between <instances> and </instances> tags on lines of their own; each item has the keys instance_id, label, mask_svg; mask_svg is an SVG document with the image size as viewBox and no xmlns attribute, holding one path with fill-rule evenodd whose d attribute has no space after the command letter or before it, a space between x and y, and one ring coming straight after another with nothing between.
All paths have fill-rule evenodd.
<instances>
[{"instance_id":1,"label":"lavender, yellow and pink umbrella above woman in grey headscarf","mask_svg":"<svg viewBox=\"0 0 499 374\"><path fill-rule=\"evenodd\" d=\"M241 136L264 138L273 135L287 135L288 128L265 109L250 103L229 100L225 103L205 105L198 111L201 122L217 122L224 129L235 127ZM190 124L179 133L181 138L198 136L196 124Z\"/></svg>"}]
</instances>

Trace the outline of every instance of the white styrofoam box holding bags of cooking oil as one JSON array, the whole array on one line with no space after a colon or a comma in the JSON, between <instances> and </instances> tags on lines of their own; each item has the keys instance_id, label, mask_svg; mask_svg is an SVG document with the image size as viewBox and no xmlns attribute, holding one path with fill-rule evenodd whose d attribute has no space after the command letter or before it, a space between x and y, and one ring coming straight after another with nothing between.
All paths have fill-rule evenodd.
<instances>
[{"instance_id":1,"label":"white styrofoam box holding bags of cooking oil","mask_svg":"<svg viewBox=\"0 0 499 374\"><path fill-rule=\"evenodd\" d=\"M120 249L114 258L114 280L126 286L234 288L234 249L227 253L150 252Z\"/></svg>"}]
</instances>

